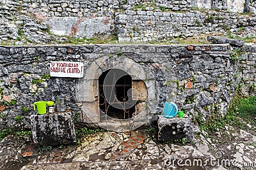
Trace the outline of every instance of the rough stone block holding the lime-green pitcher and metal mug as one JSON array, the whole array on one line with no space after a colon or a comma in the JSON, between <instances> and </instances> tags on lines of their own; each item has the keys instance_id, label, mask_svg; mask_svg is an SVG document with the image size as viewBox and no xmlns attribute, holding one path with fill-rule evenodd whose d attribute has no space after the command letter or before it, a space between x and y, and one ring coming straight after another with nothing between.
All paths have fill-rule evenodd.
<instances>
[{"instance_id":1,"label":"rough stone block holding the lime-green pitcher and metal mug","mask_svg":"<svg viewBox=\"0 0 256 170\"><path fill-rule=\"evenodd\" d=\"M31 130L36 145L67 145L76 142L71 113L31 115Z\"/></svg>"}]
</instances>

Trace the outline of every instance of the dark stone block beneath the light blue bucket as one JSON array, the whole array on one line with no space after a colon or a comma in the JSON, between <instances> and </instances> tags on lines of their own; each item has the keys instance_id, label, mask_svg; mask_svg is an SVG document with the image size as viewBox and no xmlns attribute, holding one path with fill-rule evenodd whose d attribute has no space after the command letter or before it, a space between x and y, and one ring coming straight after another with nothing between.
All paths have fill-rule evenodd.
<instances>
[{"instance_id":1,"label":"dark stone block beneath the light blue bucket","mask_svg":"<svg viewBox=\"0 0 256 170\"><path fill-rule=\"evenodd\" d=\"M193 129L190 118L164 118L163 115L161 115L157 123L159 141L174 141L182 138L191 141L191 139L193 139Z\"/></svg>"}]
</instances>

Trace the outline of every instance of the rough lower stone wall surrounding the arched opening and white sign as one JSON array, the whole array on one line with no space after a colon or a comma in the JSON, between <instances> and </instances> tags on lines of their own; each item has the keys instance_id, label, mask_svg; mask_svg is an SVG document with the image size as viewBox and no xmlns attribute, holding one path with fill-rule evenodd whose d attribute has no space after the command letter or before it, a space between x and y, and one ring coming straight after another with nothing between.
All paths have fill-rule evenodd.
<instances>
[{"instance_id":1,"label":"rough lower stone wall surrounding the arched opening and white sign","mask_svg":"<svg viewBox=\"0 0 256 170\"><path fill-rule=\"evenodd\" d=\"M76 124L98 124L90 115L97 118L99 108L92 103L98 102L99 92L86 80L91 76L97 82L95 74L109 68L127 71L129 67L131 74L143 73L149 104L141 122L161 114L165 101L174 101L191 118L199 113L207 117L214 111L224 115L237 88L251 87L251 94L255 93L256 46L244 46L236 54L228 44L1 46L1 128L30 128L33 103L54 101L59 95L67 96ZM234 58L240 54L241 60ZM83 62L85 79L49 77L52 60ZM84 95L77 91L79 85ZM24 118L19 121L15 116Z\"/></svg>"}]
</instances>

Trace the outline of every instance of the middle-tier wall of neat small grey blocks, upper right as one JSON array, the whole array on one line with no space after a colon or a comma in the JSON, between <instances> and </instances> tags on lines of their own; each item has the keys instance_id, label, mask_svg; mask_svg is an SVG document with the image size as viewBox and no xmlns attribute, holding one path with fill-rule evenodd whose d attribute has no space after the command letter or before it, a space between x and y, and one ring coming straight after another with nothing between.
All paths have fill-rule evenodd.
<instances>
[{"instance_id":1,"label":"middle-tier wall of neat small grey blocks, upper right","mask_svg":"<svg viewBox=\"0 0 256 170\"><path fill-rule=\"evenodd\" d=\"M119 41L165 41L174 38L198 36L211 32L224 33L227 29L253 27L255 18L222 12L188 13L125 11L116 16ZM233 18L230 20L230 18ZM157 26L156 26L157 25ZM160 33L161 32L161 33Z\"/></svg>"}]
</instances>

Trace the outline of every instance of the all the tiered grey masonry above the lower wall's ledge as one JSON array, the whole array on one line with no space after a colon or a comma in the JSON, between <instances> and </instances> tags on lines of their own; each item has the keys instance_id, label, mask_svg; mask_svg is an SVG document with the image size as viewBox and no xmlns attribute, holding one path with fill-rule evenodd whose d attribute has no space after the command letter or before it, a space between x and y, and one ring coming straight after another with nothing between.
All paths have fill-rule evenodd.
<instances>
[{"instance_id":1,"label":"all the tiered grey masonry above the lower wall's ledge","mask_svg":"<svg viewBox=\"0 0 256 170\"><path fill-rule=\"evenodd\" d=\"M255 2L248 6L255 13ZM68 36L110 35L118 41L159 42L209 32L237 32L239 28L255 36L255 15L236 13L243 10L244 1L238 0L1 1L0 42L55 44L67 42ZM244 36L248 35L241 38Z\"/></svg>"}]
</instances>

